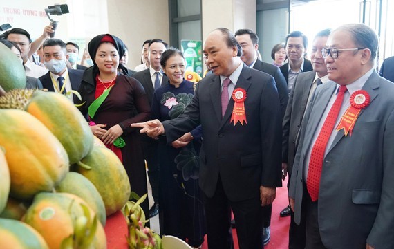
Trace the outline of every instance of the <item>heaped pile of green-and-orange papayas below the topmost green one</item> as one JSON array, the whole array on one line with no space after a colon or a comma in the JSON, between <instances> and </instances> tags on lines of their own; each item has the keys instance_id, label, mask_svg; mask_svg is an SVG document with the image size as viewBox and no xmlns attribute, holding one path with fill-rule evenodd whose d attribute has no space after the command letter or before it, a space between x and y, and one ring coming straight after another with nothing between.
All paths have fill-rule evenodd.
<instances>
[{"instance_id":1,"label":"heaped pile of green-and-orange papayas below the topmost green one","mask_svg":"<svg viewBox=\"0 0 394 249\"><path fill-rule=\"evenodd\" d=\"M106 248L106 216L131 193L122 162L63 95L13 88L0 96L0 248Z\"/></svg>"}]
</instances>

